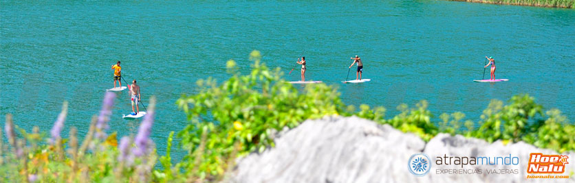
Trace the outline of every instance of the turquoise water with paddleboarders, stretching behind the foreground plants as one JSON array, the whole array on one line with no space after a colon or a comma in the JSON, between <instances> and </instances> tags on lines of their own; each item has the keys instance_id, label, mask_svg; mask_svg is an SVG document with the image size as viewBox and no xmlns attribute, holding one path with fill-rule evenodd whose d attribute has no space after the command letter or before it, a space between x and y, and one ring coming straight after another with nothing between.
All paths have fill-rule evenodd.
<instances>
[{"instance_id":1,"label":"turquoise water with paddleboarders, stretching behind the foreground plants","mask_svg":"<svg viewBox=\"0 0 575 183\"><path fill-rule=\"evenodd\" d=\"M110 65L122 60L144 102L158 98L152 136L160 154L169 132L187 123L175 100L197 92L198 79L228 78L229 59L248 73L254 49L288 80L299 80L299 70L287 72L305 50L307 80L337 86L347 104L384 106L388 117L400 103L427 99L435 117L461 111L478 121L490 99L530 93L575 121L575 10L451 1L0 1L0 36L1 124L12 113L19 127L47 132L66 100L65 131L73 125L85 135L113 86ZM371 82L341 84L355 55ZM510 81L472 82L484 56ZM124 91L110 131L135 134L140 121L122 119L129 112Z\"/></svg>"}]
</instances>

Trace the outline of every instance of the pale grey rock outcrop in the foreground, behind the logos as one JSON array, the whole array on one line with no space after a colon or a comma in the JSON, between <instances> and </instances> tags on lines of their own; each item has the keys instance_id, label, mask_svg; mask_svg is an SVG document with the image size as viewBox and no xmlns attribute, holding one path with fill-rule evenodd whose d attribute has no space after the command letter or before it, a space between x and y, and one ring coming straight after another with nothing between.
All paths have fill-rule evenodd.
<instances>
[{"instance_id":1,"label":"pale grey rock outcrop in the foreground, behind the logos","mask_svg":"<svg viewBox=\"0 0 575 183\"><path fill-rule=\"evenodd\" d=\"M428 143L410 133L358 117L305 121L278 134L276 146L238 160L230 182L574 182L575 154L561 175L570 179L526 179L529 154L557 154L525 143L503 145L475 138L438 134ZM431 169L409 171L413 154L427 154ZM441 165L437 157L517 157L519 164ZM453 158L452 158L453 159ZM464 169L467 173L453 173ZM517 169L517 173L513 172ZM449 173L452 170L451 173ZM477 173L481 170L482 173ZM495 173L488 173L495 172Z\"/></svg>"}]
</instances>

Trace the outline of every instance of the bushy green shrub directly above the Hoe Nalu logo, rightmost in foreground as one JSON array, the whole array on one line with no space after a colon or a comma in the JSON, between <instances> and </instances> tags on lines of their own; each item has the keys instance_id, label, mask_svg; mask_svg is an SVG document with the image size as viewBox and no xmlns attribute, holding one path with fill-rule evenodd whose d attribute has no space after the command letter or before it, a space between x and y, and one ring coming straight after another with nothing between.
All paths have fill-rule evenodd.
<instances>
[{"instance_id":1,"label":"bushy green shrub directly above the Hoe Nalu logo, rightmost in foreground","mask_svg":"<svg viewBox=\"0 0 575 183\"><path fill-rule=\"evenodd\" d=\"M536 147L554 149L559 152L575 150L575 125L567 121L557 109L543 114L543 106L535 103L529 95L515 95L507 106L492 100L481 115L477 131L464 132L485 139L488 142L502 140L503 143L525 141Z\"/></svg>"}]
</instances>

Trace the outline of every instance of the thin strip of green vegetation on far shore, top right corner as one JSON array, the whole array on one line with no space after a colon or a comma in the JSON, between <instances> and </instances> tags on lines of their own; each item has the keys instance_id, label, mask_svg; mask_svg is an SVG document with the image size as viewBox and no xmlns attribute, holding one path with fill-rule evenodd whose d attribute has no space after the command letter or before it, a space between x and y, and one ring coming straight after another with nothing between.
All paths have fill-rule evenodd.
<instances>
[{"instance_id":1,"label":"thin strip of green vegetation on far shore, top right corner","mask_svg":"<svg viewBox=\"0 0 575 183\"><path fill-rule=\"evenodd\" d=\"M530 5L550 8L575 8L575 0L448 0L472 3L491 3L506 5Z\"/></svg>"}]
</instances>

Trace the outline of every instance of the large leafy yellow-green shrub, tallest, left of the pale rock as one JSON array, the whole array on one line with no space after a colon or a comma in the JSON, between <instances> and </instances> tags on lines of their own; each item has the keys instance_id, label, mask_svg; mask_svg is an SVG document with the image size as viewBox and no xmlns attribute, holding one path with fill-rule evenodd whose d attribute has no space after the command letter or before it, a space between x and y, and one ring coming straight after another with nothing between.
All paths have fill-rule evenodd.
<instances>
[{"instance_id":1,"label":"large leafy yellow-green shrub, tallest, left of the pale rock","mask_svg":"<svg viewBox=\"0 0 575 183\"><path fill-rule=\"evenodd\" d=\"M260 64L260 58L259 51L250 54L254 61L250 75L234 72L235 62L228 61L228 71L233 72L229 80L220 85L214 80L200 80L200 93L177 100L192 121L178 136L182 147L191 152L186 156L189 164L199 162L198 172L206 173L199 176L220 179L232 154L261 152L274 147L274 134L284 127L343 112L344 105L333 88L313 84L299 93L281 79L279 69L268 69ZM202 134L208 134L206 148L201 145Z\"/></svg>"}]
</instances>

